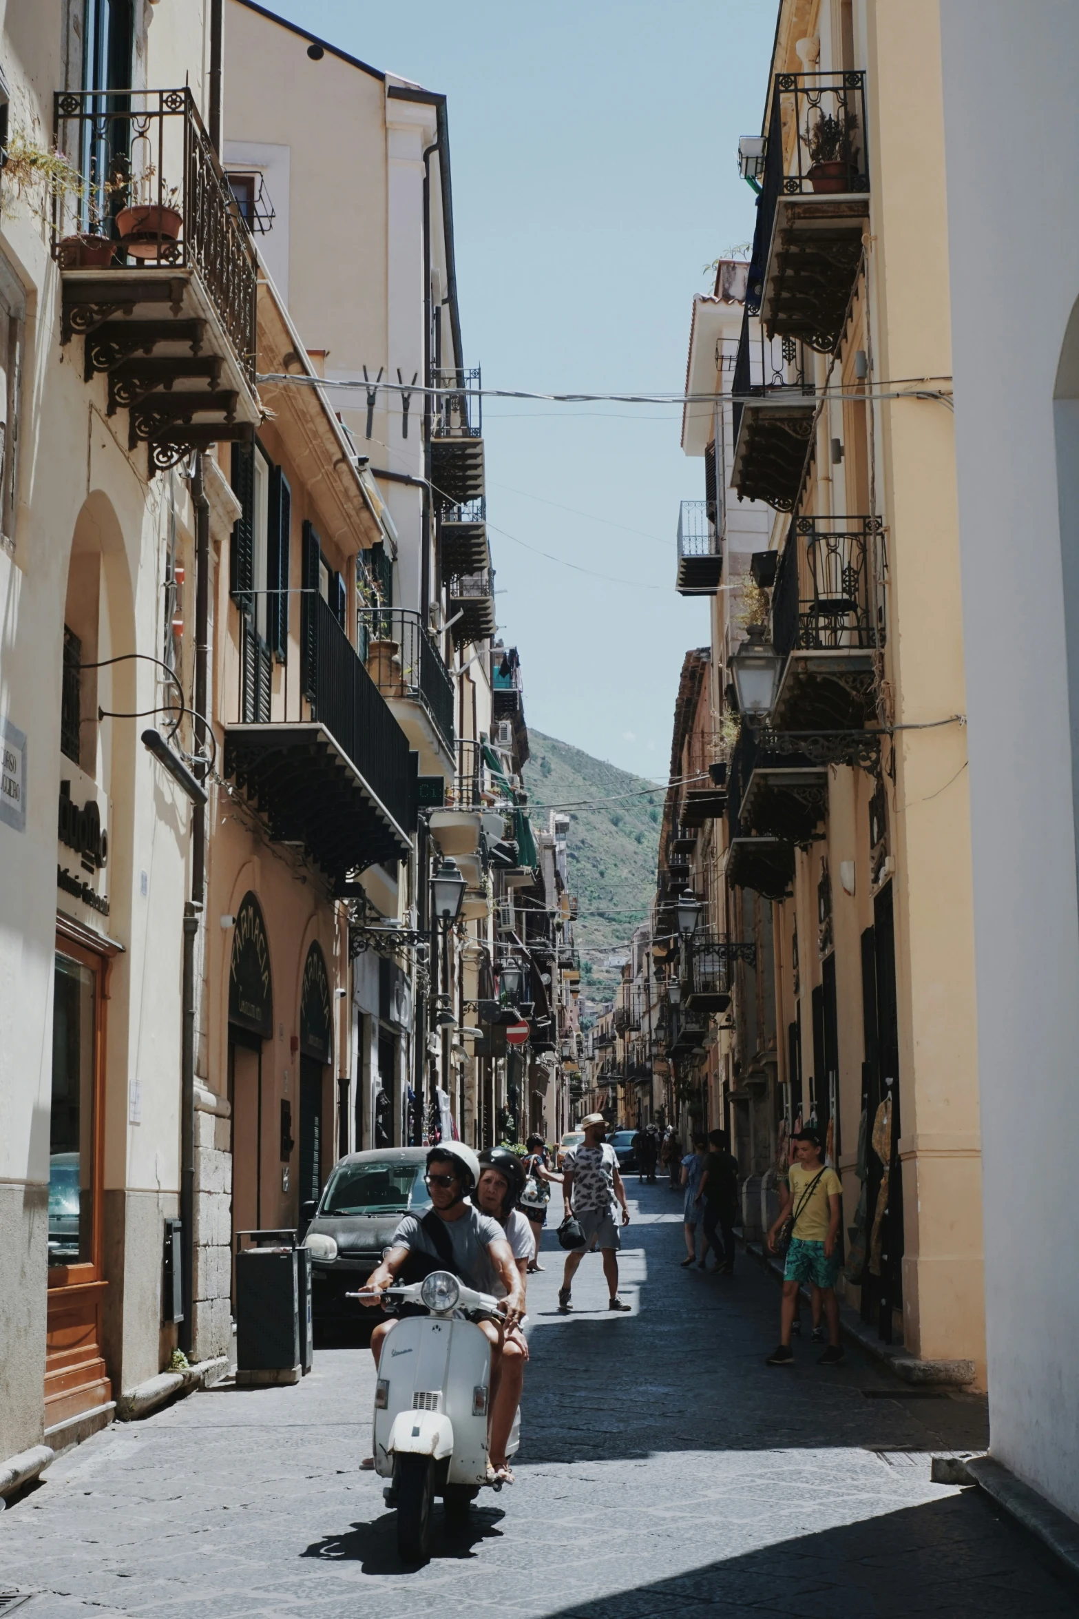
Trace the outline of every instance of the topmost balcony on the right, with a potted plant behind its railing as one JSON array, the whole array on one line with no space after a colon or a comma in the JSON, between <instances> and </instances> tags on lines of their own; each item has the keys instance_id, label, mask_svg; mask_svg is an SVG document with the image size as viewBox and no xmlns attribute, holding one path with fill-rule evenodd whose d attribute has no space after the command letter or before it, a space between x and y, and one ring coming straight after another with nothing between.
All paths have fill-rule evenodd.
<instances>
[{"instance_id":1,"label":"topmost balcony on the right, with a potted plant behind its railing","mask_svg":"<svg viewBox=\"0 0 1079 1619\"><path fill-rule=\"evenodd\" d=\"M768 335L835 353L867 225L865 74L778 73L746 293Z\"/></svg>"}]
</instances>

